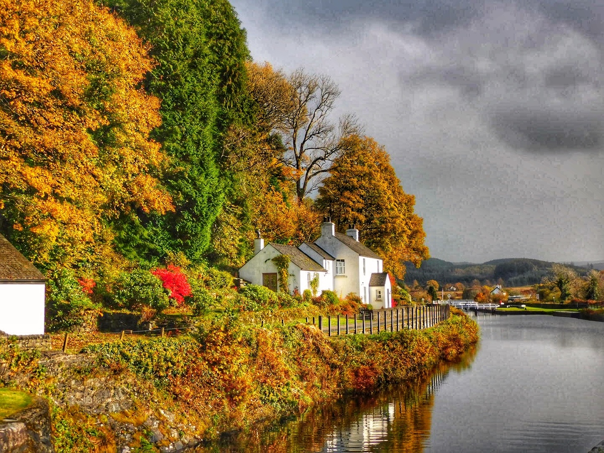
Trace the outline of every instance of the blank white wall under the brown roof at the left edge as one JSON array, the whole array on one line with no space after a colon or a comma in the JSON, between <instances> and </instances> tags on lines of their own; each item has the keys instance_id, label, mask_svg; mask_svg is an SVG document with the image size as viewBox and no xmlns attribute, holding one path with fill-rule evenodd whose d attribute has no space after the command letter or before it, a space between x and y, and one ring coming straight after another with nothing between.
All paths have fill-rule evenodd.
<instances>
[{"instance_id":1,"label":"blank white wall under the brown roof at the left edge","mask_svg":"<svg viewBox=\"0 0 604 453\"><path fill-rule=\"evenodd\" d=\"M44 335L45 288L43 282L0 282L0 330L9 335Z\"/></svg>"}]
</instances>

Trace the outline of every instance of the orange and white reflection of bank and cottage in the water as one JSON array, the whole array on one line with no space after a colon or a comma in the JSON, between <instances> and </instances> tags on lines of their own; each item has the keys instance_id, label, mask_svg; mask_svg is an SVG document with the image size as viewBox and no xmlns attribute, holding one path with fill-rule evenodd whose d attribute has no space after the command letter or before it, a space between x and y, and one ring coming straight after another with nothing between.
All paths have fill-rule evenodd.
<instances>
[{"instance_id":1,"label":"orange and white reflection of bank and cottage in the water","mask_svg":"<svg viewBox=\"0 0 604 453\"><path fill-rule=\"evenodd\" d=\"M451 370L468 368L474 348L409 385L347 397L301 417L198 447L205 452L420 452L428 443L434 397Z\"/></svg>"}]
</instances>

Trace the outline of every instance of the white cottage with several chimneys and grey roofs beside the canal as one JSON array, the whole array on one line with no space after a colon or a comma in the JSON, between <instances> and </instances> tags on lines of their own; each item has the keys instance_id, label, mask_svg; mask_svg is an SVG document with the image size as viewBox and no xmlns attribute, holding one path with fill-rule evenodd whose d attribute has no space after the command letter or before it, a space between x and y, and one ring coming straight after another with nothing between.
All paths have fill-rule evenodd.
<instances>
[{"instance_id":1,"label":"white cottage with several chimneys and grey roofs beside the canal","mask_svg":"<svg viewBox=\"0 0 604 453\"><path fill-rule=\"evenodd\" d=\"M289 255L289 291L303 292L318 276L318 292L335 291L340 297L355 293L374 308L392 306L390 277L384 262L371 249L359 242L359 230L337 233L329 219L321 225L321 237L314 243L304 242L298 248L254 240L254 257L241 269L239 277L277 291L278 271L272 261L277 255Z\"/></svg>"}]
</instances>

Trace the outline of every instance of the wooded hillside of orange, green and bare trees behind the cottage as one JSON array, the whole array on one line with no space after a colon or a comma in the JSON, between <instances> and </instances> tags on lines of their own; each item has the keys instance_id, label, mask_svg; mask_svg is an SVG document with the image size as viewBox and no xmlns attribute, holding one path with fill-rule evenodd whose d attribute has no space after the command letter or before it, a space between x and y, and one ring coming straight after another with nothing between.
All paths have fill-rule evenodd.
<instances>
[{"instance_id":1,"label":"wooded hillside of orange, green and bare trees behind the cottage","mask_svg":"<svg viewBox=\"0 0 604 453\"><path fill-rule=\"evenodd\" d=\"M0 233L53 303L234 273L257 228L297 245L324 215L398 278L429 257L388 153L333 113L335 83L254 62L228 1L0 4Z\"/></svg>"}]
</instances>

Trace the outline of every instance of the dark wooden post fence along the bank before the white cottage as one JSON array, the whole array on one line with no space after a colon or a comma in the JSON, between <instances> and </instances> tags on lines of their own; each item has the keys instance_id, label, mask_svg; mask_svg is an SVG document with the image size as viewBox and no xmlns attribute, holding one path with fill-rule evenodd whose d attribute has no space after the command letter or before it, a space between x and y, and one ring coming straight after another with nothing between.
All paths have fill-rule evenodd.
<instances>
[{"instance_id":1,"label":"dark wooden post fence along the bank before the white cottage","mask_svg":"<svg viewBox=\"0 0 604 453\"><path fill-rule=\"evenodd\" d=\"M449 306L442 304L403 306L373 310L370 316L318 316L312 318L321 332L332 335L355 335L399 332L402 329L427 329L449 318ZM310 323L310 318L306 318Z\"/></svg>"}]
</instances>

